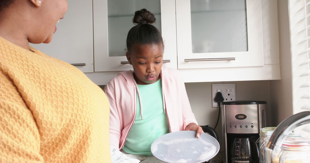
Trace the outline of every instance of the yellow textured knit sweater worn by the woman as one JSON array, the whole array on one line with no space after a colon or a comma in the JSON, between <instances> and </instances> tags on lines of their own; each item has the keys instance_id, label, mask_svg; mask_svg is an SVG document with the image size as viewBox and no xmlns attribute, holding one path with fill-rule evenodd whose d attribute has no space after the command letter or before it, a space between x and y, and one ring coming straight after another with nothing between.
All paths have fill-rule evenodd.
<instances>
[{"instance_id":1,"label":"yellow textured knit sweater worn by the woman","mask_svg":"<svg viewBox=\"0 0 310 163\"><path fill-rule=\"evenodd\" d=\"M110 162L104 92L30 49L0 37L0 162Z\"/></svg>"}]
</instances>

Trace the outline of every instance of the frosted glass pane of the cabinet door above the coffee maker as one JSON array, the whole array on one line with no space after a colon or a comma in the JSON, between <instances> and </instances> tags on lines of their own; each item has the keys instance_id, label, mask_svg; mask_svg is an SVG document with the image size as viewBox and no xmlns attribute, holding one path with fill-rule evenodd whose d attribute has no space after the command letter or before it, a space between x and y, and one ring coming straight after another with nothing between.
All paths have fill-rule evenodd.
<instances>
[{"instance_id":1,"label":"frosted glass pane of the cabinet door above the coffee maker","mask_svg":"<svg viewBox=\"0 0 310 163\"><path fill-rule=\"evenodd\" d=\"M246 0L192 0L191 26L193 53L248 50Z\"/></svg>"}]
</instances>

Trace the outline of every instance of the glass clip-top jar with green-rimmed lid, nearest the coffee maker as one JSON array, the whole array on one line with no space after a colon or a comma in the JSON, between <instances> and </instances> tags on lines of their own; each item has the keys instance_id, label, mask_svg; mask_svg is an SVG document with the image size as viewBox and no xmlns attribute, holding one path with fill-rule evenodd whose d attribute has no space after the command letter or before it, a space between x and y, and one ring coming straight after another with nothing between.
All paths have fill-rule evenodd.
<instances>
[{"instance_id":1,"label":"glass clip-top jar with green-rimmed lid, nearest the coffee maker","mask_svg":"<svg viewBox=\"0 0 310 163\"><path fill-rule=\"evenodd\" d=\"M259 143L259 163L265 162L265 139L267 138L267 132L275 129L276 127L265 127L260 129L259 139L257 140L257 143Z\"/></svg>"}]
</instances>

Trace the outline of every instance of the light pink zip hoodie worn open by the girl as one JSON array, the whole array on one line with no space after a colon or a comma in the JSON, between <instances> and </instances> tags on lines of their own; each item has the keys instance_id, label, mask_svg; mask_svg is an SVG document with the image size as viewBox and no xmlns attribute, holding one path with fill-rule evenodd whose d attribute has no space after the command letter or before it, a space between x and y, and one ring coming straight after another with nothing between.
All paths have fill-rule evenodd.
<instances>
[{"instance_id":1,"label":"light pink zip hoodie worn open by the girl","mask_svg":"<svg viewBox=\"0 0 310 163\"><path fill-rule=\"evenodd\" d=\"M189 123L197 124L178 70L162 66L161 78L164 111L170 132L183 131ZM128 132L135 122L136 91L139 95L132 70L119 73L104 87L110 102L110 146L113 148L121 150L124 147ZM139 102L143 119L142 104Z\"/></svg>"}]
</instances>

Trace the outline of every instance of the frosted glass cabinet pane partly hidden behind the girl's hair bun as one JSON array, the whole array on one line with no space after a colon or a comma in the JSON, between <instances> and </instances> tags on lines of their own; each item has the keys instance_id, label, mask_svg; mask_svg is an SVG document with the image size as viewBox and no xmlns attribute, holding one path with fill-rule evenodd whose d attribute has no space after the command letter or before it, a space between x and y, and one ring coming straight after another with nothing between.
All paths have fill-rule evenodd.
<instances>
[{"instance_id":1,"label":"frosted glass cabinet pane partly hidden behind the girl's hair bun","mask_svg":"<svg viewBox=\"0 0 310 163\"><path fill-rule=\"evenodd\" d=\"M153 25L161 31L160 0L108 0L109 56L125 56L127 33L134 26L132 18L135 11L142 8L155 15Z\"/></svg>"}]
</instances>

